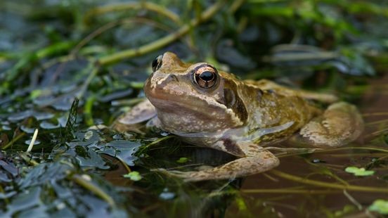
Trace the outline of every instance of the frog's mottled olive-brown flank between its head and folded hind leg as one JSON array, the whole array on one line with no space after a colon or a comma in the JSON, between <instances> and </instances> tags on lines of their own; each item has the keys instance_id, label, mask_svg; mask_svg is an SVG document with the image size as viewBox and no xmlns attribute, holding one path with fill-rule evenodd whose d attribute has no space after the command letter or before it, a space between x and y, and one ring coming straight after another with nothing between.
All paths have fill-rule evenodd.
<instances>
[{"instance_id":1,"label":"frog's mottled olive-brown flank between its head and folded hind leg","mask_svg":"<svg viewBox=\"0 0 388 218\"><path fill-rule=\"evenodd\" d=\"M261 81L243 81L243 86L240 96L247 108L247 127L260 136L255 138L257 142L287 138L321 113L311 101L281 86Z\"/></svg>"}]
</instances>

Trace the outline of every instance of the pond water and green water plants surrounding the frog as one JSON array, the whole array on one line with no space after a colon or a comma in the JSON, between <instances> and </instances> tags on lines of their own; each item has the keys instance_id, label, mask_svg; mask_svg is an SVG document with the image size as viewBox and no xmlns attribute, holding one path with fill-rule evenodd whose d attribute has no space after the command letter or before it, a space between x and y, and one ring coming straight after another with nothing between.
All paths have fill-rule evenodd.
<instances>
[{"instance_id":1,"label":"pond water and green water plants surrounding the frog","mask_svg":"<svg viewBox=\"0 0 388 218\"><path fill-rule=\"evenodd\" d=\"M388 1L0 1L1 216L388 214L387 21ZM233 158L101 126L144 98L164 51L337 94L358 105L365 133L279 153L280 167L244 179L153 172Z\"/></svg>"}]
</instances>

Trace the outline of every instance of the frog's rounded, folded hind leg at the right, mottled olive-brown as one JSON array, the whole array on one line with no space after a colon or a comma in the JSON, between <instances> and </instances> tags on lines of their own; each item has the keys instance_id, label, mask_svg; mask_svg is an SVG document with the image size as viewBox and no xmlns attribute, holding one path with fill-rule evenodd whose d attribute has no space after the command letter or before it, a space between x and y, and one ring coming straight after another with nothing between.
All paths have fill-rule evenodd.
<instances>
[{"instance_id":1,"label":"frog's rounded, folded hind leg at the right, mottled olive-brown","mask_svg":"<svg viewBox=\"0 0 388 218\"><path fill-rule=\"evenodd\" d=\"M357 108L346 102L338 102L302 127L294 140L318 148L330 148L354 141L362 131L363 119Z\"/></svg>"}]
</instances>

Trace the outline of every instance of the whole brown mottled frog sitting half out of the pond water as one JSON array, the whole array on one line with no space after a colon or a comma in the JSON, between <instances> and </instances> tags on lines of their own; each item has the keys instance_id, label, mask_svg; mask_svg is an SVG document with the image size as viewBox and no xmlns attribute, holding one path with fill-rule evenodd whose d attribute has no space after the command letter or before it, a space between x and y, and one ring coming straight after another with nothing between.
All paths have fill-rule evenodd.
<instances>
[{"instance_id":1,"label":"whole brown mottled frog sitting half out of the pond water","mask_svg":"<svg viewBox=\"0 0 388 218\"><path fill-rule=\"evenodd\" d=\"M274 146L296 140L311 148L335 148L360 136L363 119L355 105L333 94L295 89L268 79L239 79L210 63L184 63L165 52L152 63L145 101L117 119L115 129L133 124L161 129L186 143L236 157L194 171L155 169L185 181L235 179L280 164ZM328 105L323 108L322 105Z\"/></svg>"}]
</instances>

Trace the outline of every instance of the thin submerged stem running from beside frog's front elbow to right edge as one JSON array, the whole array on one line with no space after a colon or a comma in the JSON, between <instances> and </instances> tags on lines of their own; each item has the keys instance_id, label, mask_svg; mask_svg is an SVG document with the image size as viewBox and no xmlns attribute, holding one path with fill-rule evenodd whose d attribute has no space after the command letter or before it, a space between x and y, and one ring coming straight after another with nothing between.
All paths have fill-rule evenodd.
<instances>
[{"instance_id":1,"label":"thin submerged stem running from beside frog's front elbow to right edge","mask_svg":"<svg viewBox=\"0 0 388 218\"><path fill-rule=\"evenodd\" d=\"M309 184L313 186L321 186L326 188L337 188L341 190L349 190L349 191L363 191L363 192L377 192L377 193L388 193L388 188L378 188L378 187L367 187L367 186L352 186L352 185L344 185L344 184L333 184L324 181L316 181L313 179L305 179L302 177L297 177L291 174L287 174L285 172L280 172L276 169L271 170L272 174L275 174L278 177L282 177L283 179L288 179L291 181L297 181L302 184Z\"/></svg>"}]
</instances>

